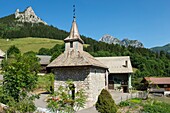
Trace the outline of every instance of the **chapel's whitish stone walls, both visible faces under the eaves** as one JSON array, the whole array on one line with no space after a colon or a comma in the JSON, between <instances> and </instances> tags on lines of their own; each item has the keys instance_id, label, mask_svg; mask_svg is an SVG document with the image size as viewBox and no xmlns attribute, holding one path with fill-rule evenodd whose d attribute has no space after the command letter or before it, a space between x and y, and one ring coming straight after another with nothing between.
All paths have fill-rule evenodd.
<instances>
[{"instance_id":1,"label":"chapel's whitish stone walls, both visible faces under the eaves","mask_svg":"<svg viewBox=\"0 0 170 113\"><path fill-rule=\"evenodd\" d=\"M60 85L65 85L65 81L71 79L75 85L75 90L84 89L87 102L85 108L91 107L97 101L101 90L105 88L105 70L94 67L71 67L58 68L54 70L54 89Z\"/></svg>"}]
</instances>

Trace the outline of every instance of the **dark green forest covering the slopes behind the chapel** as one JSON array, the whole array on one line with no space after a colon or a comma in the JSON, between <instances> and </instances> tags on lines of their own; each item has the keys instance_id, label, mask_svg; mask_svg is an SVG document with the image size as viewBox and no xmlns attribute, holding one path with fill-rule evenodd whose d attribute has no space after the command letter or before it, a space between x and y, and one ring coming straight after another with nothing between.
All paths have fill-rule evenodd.
<instances>
[{"instance_id":1,"label":"dark green forest covering the slopes behind the chapel","mask_svg":"<svg viewBox=\"0 0 170 113\"><path fill-rule=\"evenodd\" d=\"M44 24L19 23L10 15L0 19L0 36L2 38L44 37L63 40L69 33ZM136 68L134 78L144 76L169 76L170 55L165 52L155 53L146 48L124 47L114 44L98 42L81 36L86 44L85 51L93 56L130 56L132 65ZM63 46L52 49L42 48L39 54L53 55L53 59L63 51Z\"/></svg>"}]
</instances>

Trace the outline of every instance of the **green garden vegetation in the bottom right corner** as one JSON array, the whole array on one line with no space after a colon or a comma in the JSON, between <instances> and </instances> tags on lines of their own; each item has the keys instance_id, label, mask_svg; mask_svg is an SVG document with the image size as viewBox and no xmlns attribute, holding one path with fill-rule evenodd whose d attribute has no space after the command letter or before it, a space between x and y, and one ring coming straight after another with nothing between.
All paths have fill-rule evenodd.
<instances>
[{"instance_id":1,"label":"green garden vegetation in the bottom right corner","mask_svg":"<svg viewBox=\"0 0 170 113\"><path fill-rule=\"evenodd\" d=\"M169 99L169 98L167 98ZM142 100L138 98L123 101L119 104L117 113L170 113L169 102L156 98Z\"/></svg>"}]
</instances>

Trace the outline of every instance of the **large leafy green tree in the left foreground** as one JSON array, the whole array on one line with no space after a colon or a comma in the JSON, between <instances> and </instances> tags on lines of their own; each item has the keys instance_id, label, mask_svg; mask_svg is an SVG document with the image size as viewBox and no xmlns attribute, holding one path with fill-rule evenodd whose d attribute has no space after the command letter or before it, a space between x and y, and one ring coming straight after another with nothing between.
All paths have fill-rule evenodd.
<instances>
[{"instance_id":1,"label":"large leafy green tree in the left foreground","mask_svg":"<svg viewBox=\"0 0 170 113\"><path fill-rule=\"evenodd\" d=\"M30 94L36 87L39 59L35 54L15 54L3 61L3 85L0 100L9 106L9 111L32 112L35 110L33 100L37 97Z\"/></svg>"}]
</instances>

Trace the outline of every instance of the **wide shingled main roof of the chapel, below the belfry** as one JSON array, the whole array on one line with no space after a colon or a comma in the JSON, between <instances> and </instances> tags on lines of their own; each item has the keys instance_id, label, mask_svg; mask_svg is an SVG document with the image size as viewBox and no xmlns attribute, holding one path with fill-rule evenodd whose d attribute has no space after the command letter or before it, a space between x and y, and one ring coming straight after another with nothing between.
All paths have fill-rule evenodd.
<instances>
[{"instance_id":1,"label":"wide shingled main roof of the chapel, below the belfry","mask_svg":"<svg viewBox=\"0 0 170 113\"><path fill-rule=\"evenodd\" d=\"M47 67L77 67L95 66L107 69L107 67L85 51L64 52L53 60Z\"/></svg>"}]
</instances>

